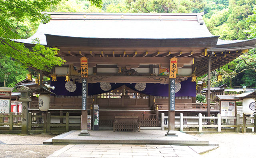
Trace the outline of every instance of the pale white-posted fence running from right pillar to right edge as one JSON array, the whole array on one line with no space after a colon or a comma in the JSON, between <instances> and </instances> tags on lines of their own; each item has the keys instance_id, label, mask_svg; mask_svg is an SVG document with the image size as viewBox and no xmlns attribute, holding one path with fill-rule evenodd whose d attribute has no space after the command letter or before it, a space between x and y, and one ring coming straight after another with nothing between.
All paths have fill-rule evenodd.
<instances>
[{"instance_id":1,"label":"pale white-posted fence running from right pillar to right edge","mask_svg":"<svg viewBox=\"0 0 256 158\"><path fill-rule=\"evenodd\" d=\"M168 117L164 116L164 113L162 113L161 118L161 128L164 130L164 127L168 127ZM186 124L184 124L184 119L186 119ZM240 119L243 120L243 124L240 124ZM208 124L208 120L210 120L210 124ZM230 124L230 120L234 120L233 124ZM218 114L217 117L204 117L199 113L198 116L188 117L180 113L180 116L175 117L175 127L180 128L180 131L184 131L184 128L198 128L198 131L201 132L203 128L216 128L216 131L220 132L221 128L228 127L234 128L236 132L239 132L240 128L242 128L242 132L244 132L246 128L249 127L254 128L256 132L254 122L256 122L256 115L254 115L254 117L246 117L246 122L239 114L237 114L236 117L221 117L220 114Z\"/></svg>"}]
</instances>

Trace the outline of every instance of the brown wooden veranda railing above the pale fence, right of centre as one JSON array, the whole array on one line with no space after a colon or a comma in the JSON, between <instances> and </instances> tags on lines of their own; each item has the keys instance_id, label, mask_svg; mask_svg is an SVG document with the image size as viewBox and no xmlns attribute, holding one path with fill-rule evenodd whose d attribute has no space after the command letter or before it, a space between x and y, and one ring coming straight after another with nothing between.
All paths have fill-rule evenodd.
<instances>
[{"instance_id":1,"label":"brown wooden veranda railing above the pale fence, right of centre","mask_svg":"<svg viewBox=\"0 0 256 158\"><path fill-rule=\"evenodd\" d=\"M168 110L168 103L156 103L159 110ZM175 103L175 110L207 110L207 103ZM210 103L210 111L218 111L218 103Z\"/></svg>"}]
</instances>

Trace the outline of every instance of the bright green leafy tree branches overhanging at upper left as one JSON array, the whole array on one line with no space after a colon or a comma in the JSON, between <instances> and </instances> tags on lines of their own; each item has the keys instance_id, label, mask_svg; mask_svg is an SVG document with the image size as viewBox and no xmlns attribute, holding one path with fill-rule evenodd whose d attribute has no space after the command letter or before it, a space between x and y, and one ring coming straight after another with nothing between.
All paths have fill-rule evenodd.
<instances>
[{"instance_id":1,"label":"bright green leafy tree branches overhanging at upper left","mask_svg":"<svg viewBox=\"0 0 256 158\"><path fill-rule=\"evenodd\" d=\"M65 61L56 56L56 48L40 45L38 40L34 41L35 46L31 49L23 43L15 42L15 39L26 37L26 34L20 34L20 26L27 22L48 22L50 16L42 11L60 1L0 0L0 53L17 59L26 67L32 66L44 71L50 71L54 65L62 65ZM102 5L101 0L90 2L98 7Z\"/></svg>"}]
</instances>

